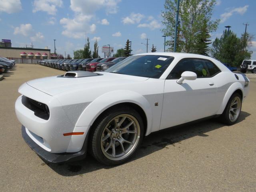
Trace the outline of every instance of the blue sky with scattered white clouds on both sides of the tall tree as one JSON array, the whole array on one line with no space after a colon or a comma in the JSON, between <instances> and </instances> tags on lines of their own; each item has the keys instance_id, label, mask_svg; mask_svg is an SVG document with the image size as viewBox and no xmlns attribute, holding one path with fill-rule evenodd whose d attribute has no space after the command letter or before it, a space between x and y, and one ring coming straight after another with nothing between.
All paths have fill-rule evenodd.
<instances>
[{"instance_id":1,"label":"blue sky with scattered white clouds on both sides of the tall tree","mask_svg":"<svg viewBox=\"0 0 256 192\"><path fill-rule=\"evenodd\" d=\"M114 53L124 48L127 39L132 41L132 54L148 52L152 44L157 52L164 51L161 13L165 0L0 0L0 39L10 39L12 47L51 49L65 56L84 47L86 36L93 50L98 41L110 44ZM225 26L237 36L245 31L256 34L256 0L217 0L212 19L220 19L218 30L211 39L220 37ZM166 37L166 40L169 40ZM252 42L256 59L256 36Z\"/></svg>"}]
</instances>

